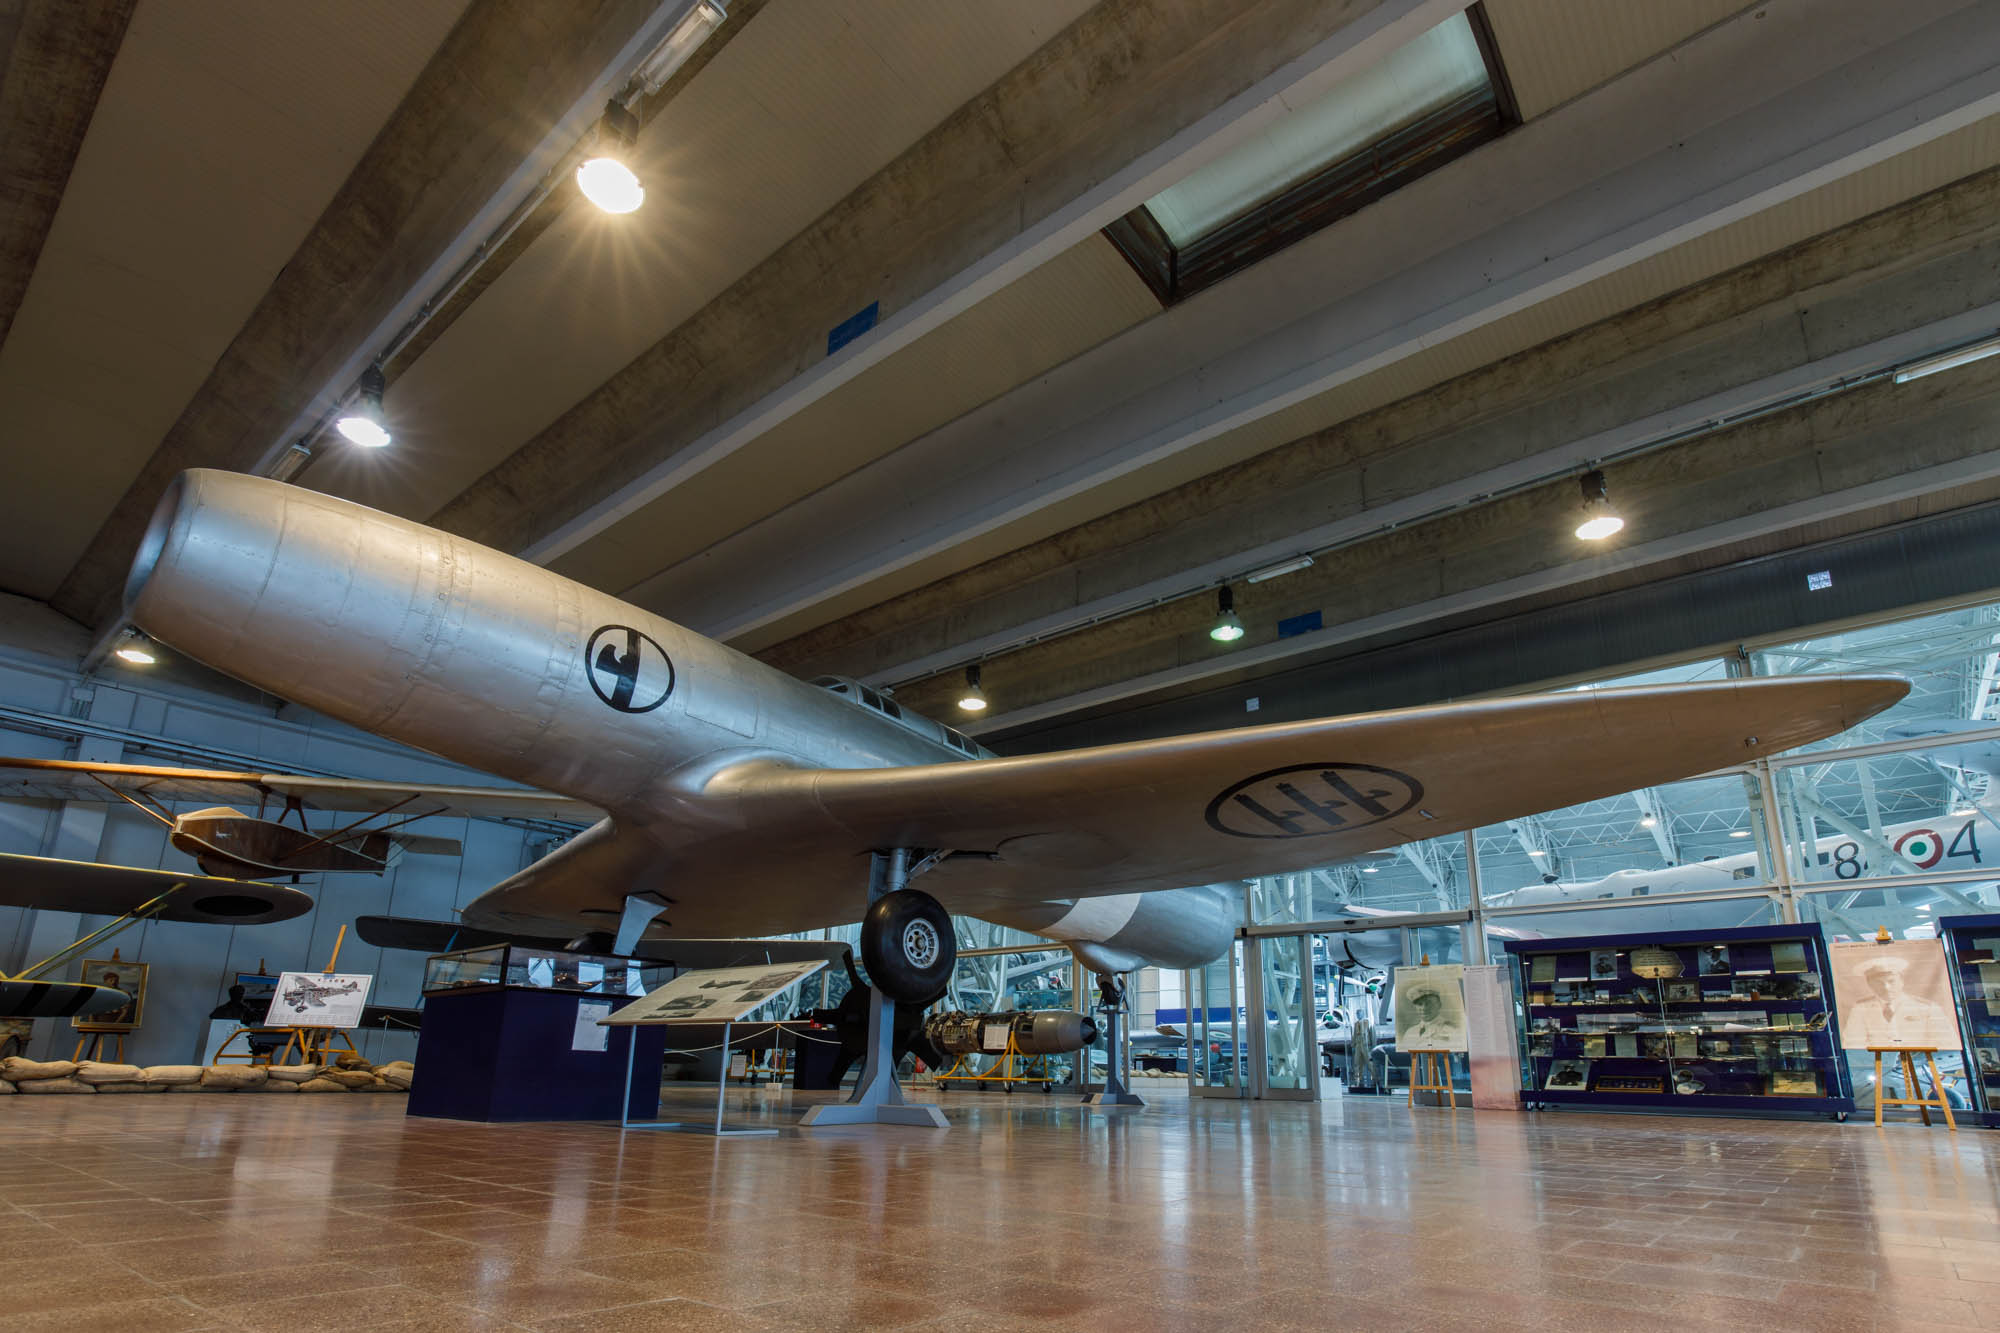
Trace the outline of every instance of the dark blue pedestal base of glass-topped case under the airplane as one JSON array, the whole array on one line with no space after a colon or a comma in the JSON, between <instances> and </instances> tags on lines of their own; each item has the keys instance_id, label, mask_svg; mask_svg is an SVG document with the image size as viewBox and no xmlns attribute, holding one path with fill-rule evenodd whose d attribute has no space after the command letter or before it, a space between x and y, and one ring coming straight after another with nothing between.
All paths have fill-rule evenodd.
<instances>
[{"instance_id":1,"label":"dark blue pedestal base of glass-topped case under the airplane","mask_svg":"<svg viewBox=\"0 0 2000 1333\"><path fill-rule=\"evenodd\" d=\"M410 1115L448 1121L618 1121L660 1105L658 1027L596 1029L602 1051L578 1051L578 1005L624 1009L626 995L536 987L468 987L424 1001ZM636 1047L632 1043L638 1043ZM632 1093L626 1103L626 1055Z\"/></svg>"}]
</instances>

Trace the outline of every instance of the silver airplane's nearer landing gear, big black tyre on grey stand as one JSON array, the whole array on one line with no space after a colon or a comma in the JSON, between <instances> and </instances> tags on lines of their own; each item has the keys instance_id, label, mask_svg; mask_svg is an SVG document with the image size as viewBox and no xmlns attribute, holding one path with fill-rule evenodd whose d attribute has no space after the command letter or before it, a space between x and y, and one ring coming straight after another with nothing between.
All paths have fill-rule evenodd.
<instances>
[{"instance_id":1,"label":"silver airplane's nearer landing gear, big black tyre on grey stand","mask_svg":"<svg viewBox=\"0 0 2000 1333\"><path fill-rule=\"evenodd\" d=\"M876 853L862 917L862 963L868 967L868 1063L846 1103L806 1113L800 1125L918 1125L948 1129L944 1111L906 1103L896 1085L896 1003L928 1005L952 981L958 941L950 915L928 893L906 889L910 855Z\"/></svg>"}]
</instances>

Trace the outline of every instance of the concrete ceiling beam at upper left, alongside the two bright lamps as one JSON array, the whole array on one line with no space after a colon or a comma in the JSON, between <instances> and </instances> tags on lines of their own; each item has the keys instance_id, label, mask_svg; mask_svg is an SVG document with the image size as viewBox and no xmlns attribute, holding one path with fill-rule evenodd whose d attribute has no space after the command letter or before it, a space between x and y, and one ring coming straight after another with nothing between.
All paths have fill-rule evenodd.
<instances>
[{"instance_id":1,"label":"concrete ceiling beam at upper left, alongside the two bright lamps","mask_svg":"<svg viewBox=\"0 0 2000 1333\"><path fill-rule=\"evenodd\" d=\"M190 466L252 470L330 406L462 256L576 142L664 36L658 0L474 0L272 282L52 604L116 612L152 506ZM510 196L512 190L512 196Z\"/></svg>"}]
</instances>

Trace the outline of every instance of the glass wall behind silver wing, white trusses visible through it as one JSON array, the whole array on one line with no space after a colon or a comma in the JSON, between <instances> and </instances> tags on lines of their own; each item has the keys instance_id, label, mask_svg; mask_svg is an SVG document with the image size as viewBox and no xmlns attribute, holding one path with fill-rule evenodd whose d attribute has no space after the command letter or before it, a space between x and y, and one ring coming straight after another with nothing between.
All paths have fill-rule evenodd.
<instances>
[{"instance_id":1,"label":"glass wall behind silver wing, white trusses visible through it","mask_svg":"<svg viewBox=\"0 0 2000 1333\"><path fill-rule=\"evenodd\" d=\"M1778 921L1818 921L1828 939L1878 927L1922 939L1938 915L1996 911L2000 604L1744 644L1570 689L1820 673L1902 675L1912 691L1774 761L1250 881L1252 935L1284 941L1300 927L1312 939L1320 1067L1350 1089L1400 1077L1380 1041L1388 981L1426 955L1480 961L1500 957L1506 939ZM1354 929L1362 921L1376 929ZM1272 967L1284 971L1286 957ZM1290 995L1282 977L1264 985ZM1292 1053L1266 1045L1268 1075L1292 1069ZM1856 1069L1856 1089L1866 1073Z\"/></svg>"}]
</instances>

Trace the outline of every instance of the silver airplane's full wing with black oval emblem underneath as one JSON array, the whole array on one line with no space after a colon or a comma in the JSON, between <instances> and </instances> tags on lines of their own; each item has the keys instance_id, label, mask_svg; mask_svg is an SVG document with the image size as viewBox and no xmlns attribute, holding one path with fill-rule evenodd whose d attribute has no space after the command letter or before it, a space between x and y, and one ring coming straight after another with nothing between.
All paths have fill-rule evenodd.
<instances>
[{"instance_id":1,"label":"silver airplane's full wing with black oval emblem underneath","mask_svg":"<svg viewBox=\"0 0 2000 1333\"><path fill-rule=\"evenodd\" d=\"M870 849L948 851L918 881L958 913L1302 871L1846 731L1892 677L1574 691L916 769L746 763L672 823L606 821L466 909L474 925L608 921L668 899L670 933L852 921ZM852 893L850 893L852 889Z\"/></svg>"}]
</instances>

